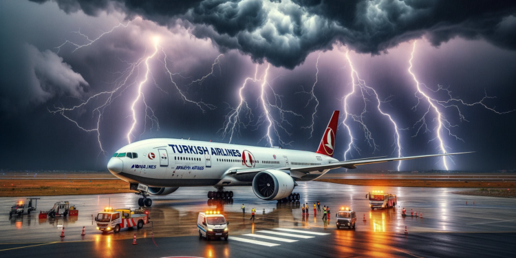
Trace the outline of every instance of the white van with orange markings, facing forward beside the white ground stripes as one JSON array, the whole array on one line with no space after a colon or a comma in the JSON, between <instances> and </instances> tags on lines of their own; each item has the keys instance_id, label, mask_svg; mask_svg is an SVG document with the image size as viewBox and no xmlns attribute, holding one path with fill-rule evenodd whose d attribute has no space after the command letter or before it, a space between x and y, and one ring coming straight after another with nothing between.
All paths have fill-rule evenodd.
<instances>
[{"instance_id":1,"label":"white van with orange markings, facing forward beside the white ground stripes","mask_svg":"<svg viewBox=\"0 0 516 258\"><path fill-rule=\"evenodd\" d=\"M211 238L222 238L228 240L228 225L224 215L217 211L206 211L206 213L199 213L197 217L197 231L199 231L199 238L206 237L207 240Z\"/></svg>"}]
</instances>

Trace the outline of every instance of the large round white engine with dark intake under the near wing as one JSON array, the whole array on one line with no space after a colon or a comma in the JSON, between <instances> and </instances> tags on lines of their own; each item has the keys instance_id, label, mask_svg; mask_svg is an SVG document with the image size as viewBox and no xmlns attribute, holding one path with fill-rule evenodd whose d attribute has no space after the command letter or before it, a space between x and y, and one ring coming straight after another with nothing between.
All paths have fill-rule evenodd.
<instances>
[{"instance_id":1,"label":"large round white engine with dark intake under the near wing","mask_svg":"<svg viewBox=\"0 0 516 258\"><path fill-rule=\"evenodd\" d=\"M261 200L280 200L294 191L294 179L283 171L261 171L252 180L252 191Z\"/></svg>"}]
</instances>

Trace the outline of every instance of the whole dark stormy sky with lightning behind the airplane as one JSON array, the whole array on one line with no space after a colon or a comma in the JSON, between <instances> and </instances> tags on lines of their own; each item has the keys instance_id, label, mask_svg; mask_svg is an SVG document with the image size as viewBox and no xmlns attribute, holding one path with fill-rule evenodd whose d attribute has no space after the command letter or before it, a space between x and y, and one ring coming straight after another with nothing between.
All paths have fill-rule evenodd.
<instances>
[{"instance_id":1,"label":"whole dark stormy sky with lightning behind the airplane","mask_svg":"<svg viewBox=\"0 0 516 258\"><path fill-rule=\"evenodd\" d=\"M513 1L6 0L0 22L0 169L158 137L315 151L333 110L340 160L516 168Z\"/></svg>"}]
</instances>

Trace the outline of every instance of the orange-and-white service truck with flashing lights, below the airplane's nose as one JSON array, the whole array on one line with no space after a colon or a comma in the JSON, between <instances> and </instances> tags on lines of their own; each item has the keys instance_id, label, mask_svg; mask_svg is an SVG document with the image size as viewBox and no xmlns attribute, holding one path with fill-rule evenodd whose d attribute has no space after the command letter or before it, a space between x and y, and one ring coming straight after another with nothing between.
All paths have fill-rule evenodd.
<instances>
[{"instance_id":1,"label":"orange-and-white service truck with flashing lights, below the airplane's nose","mask_svg":"<svg viewBox=\"0 0 516 258\"><path fill-rule=\"evenodd\" d=\"M113 230L113 233L118 233L121 228L132 228L133 226L138 229L143 228L143 225L149 223L149 212L143 208L134 211L118 208L113 211L113 208L107 207L103 212L98 213L95 221L98 230L103 232Z\"/></svg>"}]
</instances>

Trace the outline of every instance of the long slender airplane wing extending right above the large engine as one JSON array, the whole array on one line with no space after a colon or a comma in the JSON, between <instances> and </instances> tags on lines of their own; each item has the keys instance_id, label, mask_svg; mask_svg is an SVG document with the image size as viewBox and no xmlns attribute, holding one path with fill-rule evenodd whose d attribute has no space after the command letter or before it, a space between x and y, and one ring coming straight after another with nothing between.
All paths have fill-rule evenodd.
<instances>
[{"instance_id":1,"label":"long slender airplane wing extending right above the large engine","mask_svg":"<svg viewBox=\"0 0 516 258\"><path fill-rule=\"evenodd\" d=\"M402 158L385 158L385 156L382 157L374 157L374 158L361 158L357 160L346 160L346 161L340 161L340 162L334 162L330 164L323 164L323 165L317 165L317 166L285 166L285 167L271 167L271 168L253 168L253 169L233 169L228 171L228 175L238 176L238 175L247 175L248 177L254 177L254 174L259 173L261 171L265 171L268 169L274 169L274 170L286 170L286 171L297 171L301 173L310 173L311 171L319 171L322 172L326 169L338 169L338 168L345 168L345 169L356 169L356 166L362 166L366 164L375 164L375 163L383 163L383 162L389 162L389 161L398 161L398 160L414 160L417 158L430 158L430 157L440 157L440 156L447 156L447 155L459 155L459 154L466 154L466 153L473 153L474 151L470 152L460 152L460 153L444 153L444 154L432 154L432 155L418 155L418 156L410 156L410 157L402 157Z\"/></svg>"}]
</instances>

